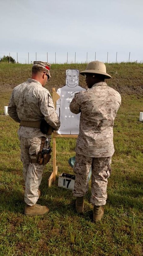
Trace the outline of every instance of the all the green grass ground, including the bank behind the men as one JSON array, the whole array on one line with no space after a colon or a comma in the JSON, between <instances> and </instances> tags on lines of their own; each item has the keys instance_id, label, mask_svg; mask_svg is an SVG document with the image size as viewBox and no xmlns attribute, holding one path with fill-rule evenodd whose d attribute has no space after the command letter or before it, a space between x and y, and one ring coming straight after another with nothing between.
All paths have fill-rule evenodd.
<instances>
[{"instance_id":1,"label":"all the green grass ground, including the bank behind the men","mask_svg":"<svg viewBox=\"0 0 143 256\"><path fill-rule=\"evenodd\" d=\"M65 84L65 69L86 64L53 65L51 91ZM83 216L74 209L70 190L50 188L52 159L45 166L39 204L48 205L45 217L24 215L24 181L20 162L18 124L3 115L12 88L26 81L31 65L0 64L0 256L23 255L143 255L143 64L108 64L108 84L122 96L114 125L115 153L108 183L108 199L101 222L92 224L91 191L85 196ZM84 78L80 85L85 87ZM68 159L74 156L75 139L56 139L58 174L73 173Z\"/></svg>"}]
</instances>

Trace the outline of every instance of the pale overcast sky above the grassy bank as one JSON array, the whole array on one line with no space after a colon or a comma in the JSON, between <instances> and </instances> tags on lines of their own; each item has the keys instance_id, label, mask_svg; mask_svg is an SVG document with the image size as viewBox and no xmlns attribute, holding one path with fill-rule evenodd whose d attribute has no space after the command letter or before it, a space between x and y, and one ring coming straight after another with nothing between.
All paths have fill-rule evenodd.
<instances>
[{"instance_id":1,"label":"pale overcast sky above the grassy bank","mask_svg":"<svg viewBox=\"0 0 143 256\"><path fill-rule=\"evenodd\" d=\"M0 0L0 57L143 61L142 0Z\"/></svg>"}]
</instances>

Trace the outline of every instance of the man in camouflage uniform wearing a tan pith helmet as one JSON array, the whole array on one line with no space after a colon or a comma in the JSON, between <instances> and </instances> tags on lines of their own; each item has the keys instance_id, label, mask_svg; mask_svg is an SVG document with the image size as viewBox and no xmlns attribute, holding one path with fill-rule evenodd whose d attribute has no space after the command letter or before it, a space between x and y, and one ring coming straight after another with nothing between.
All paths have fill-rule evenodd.
<instances>
[{"instance_id":1,"label":"man in camouflage uniform wearing a tan pith helmet","mask_svg":"<svg viewBox=\"0 0 143 256\"><path fill-rule=\"evenodd\" d=\"M81 74L86 76L89 89L75 94L70 103L71 112L81 112L75 149L73 194L78 199L77 211L83 212L83 196L88 191L87 178L92 167L91 203L103 215L104 210L100 206L105 205L107 199L107 179L111 174L110 164L114 154L113 126L121 96L104 81L105 78L111 78L106 73L104 63L90 62ZM101 219L97 211L95 215L97 220Z\"/></svg>"}]
</instances>

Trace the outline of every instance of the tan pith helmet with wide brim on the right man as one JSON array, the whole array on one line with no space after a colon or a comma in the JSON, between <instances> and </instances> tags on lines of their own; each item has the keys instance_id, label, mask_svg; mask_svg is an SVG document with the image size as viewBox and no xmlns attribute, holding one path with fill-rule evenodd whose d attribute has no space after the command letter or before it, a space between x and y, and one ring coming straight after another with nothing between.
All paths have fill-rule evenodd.
<instances>
[{"instance_id":1,"label":"tan pith helmet with wide brim on the right man","mask_svg":"<svg viewBox=\"0 0 143 256\"><path fill-rule=\"evenodd\" d=\"M106 73L105 64L100 61L92 61L88 63L86 70L80 72L81 75L84 75L86 73L101 74L104 75L107 79L111 78L111 76Z\"/></svg>"}]
</instances>

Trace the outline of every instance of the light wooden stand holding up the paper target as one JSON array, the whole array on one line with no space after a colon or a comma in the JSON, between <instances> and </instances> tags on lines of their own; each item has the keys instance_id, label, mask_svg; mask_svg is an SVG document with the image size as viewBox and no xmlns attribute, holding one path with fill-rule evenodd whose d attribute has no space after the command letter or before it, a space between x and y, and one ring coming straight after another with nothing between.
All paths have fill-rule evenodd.
<instances>
[{"instance_id":1,"label":"light wooden stand holding up the paper target","mask_svg":"<svg viewBox=\"0 0 143 256\"><path fill-rule=\"evenodd\" d=\"M56 109L56 101L60 98L59 94L56 93L55 88L52 88L52 98L54 102L54 107ZM74 134L58 134L55 131L53 132L53 171L48 179L48 187L51 186L52 182L56 181L56 175L58 172L58 167L56 165L56 138L77 138L78 135Z\"/></svg>"}]
</instances>

